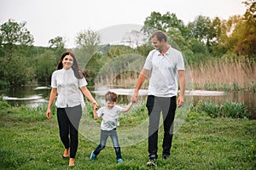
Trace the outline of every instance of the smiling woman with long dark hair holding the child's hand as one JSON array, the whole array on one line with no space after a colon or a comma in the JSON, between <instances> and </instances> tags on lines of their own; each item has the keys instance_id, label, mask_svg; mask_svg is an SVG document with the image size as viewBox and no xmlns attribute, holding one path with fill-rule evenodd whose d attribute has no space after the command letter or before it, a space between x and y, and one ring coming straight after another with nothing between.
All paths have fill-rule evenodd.
<instances>
[{"instance_id":1,"label":"smiling woman with long dark hair holding the child's hand","mask_svg":"<svg viewBox=\"0 0 256 170\"><path fill-rule=\"evenodd\" d=\"M46 117L51 118L51 105L55 101L57 107L57 120L61 142L65 150L63 158L69 157L69 167L74 166L76 152L79 144L79 122L84 107L84 96L91 101L94 109L98 107L96 100L86 88L87 82L84 74L79 70L79 65L71 52L62 54L51 78L51 92ZM58 95L57 95L58 94ZM84 96L83 96L84 94ZM70 135L70 139L69 139Z\"/></svg>"}]
</instances>

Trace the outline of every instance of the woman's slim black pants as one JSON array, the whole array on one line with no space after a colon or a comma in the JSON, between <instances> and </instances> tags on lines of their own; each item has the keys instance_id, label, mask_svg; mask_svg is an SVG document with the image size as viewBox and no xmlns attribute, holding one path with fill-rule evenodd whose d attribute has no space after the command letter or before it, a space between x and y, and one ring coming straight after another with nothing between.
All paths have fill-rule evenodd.
<instances>
[{"instance_id":1,"label":"woman's slim black pants","mask_svg":"<svg viewBox=\"0 0 256 170\"><path fill-rule=\"evenodd\" d=\"M70 158L75 158L79 146L79 122L82 116L82 107L57 108L57 119L61 142L65 148L70 147ZM70 139L69 139L70 135Z\"/></svg>"}]
</instances>

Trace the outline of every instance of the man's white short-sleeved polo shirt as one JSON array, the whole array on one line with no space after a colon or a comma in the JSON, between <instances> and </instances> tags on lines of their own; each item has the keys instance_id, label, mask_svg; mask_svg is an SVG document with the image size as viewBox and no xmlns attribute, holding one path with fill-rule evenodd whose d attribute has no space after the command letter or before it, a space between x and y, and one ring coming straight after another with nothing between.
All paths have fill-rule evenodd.
<instances>
[{"instance_id":1,"label":"man's white short-sleeved polo shirt","mask_svg":"<svg viewBox=\"0 0 256 170\"><path fill-rule=\"evenodd\" d=\"M151 71L148 95L177 96L177 71L185 70L183 55L172 47L163 56L156 49L149 52L144 69Z\"/></svg>"}]
</instances>

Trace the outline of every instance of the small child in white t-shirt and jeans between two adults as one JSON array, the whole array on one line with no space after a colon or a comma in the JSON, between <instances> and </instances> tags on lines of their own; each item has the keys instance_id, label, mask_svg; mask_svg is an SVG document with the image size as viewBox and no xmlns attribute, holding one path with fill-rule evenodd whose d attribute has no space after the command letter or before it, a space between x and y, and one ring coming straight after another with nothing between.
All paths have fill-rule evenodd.
<instances>
[{"instance_id":1,"label":"small child in white t-shirt and jeans between two adults","mask_svg":"<svg viewBox=\"0 0 256 170\"><path fill-rule=\"evenodd\" d=\"M131 109L132 102L130 102L130 104L125 108L122 108L119 105L115 105L117 97L117 94L108 91L108 93L105 94L106 105L100 108L98 111L96 111L96 109L94 110L95 120L97 120L99 117L102 117L101 139L100 144L96 147L95 150L91 152L90 160L96 159L96 156L98 156L101 150L105 148L108 136L110 136L117 161L123 161L119 146L118 134L116 132L116 126L118 124L119 113L129 111Z\"/></svg>"}]
</instances>

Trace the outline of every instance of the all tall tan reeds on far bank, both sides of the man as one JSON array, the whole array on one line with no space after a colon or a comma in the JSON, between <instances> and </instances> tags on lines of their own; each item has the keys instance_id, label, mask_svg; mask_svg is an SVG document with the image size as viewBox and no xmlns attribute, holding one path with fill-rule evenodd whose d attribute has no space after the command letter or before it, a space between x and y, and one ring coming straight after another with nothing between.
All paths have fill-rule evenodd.
<instances>
[{"instance_id":1,"label":"all tall tan reeds on far bank, both sides of the man","mask_svg":"<svg viewBox=\"0 0 256 170\"><path fill-rule=\"evenodd\" d=\"M97 77L96 87L108 84L109 86L134 88L141 70L138 68L143 68L143 62L138 62L136 69L134 65L128 65L126 71L102 71L104 74L100 73ZM252 59L245 57L237 59L230 55L222 59L211 58L194 63L188 67L191 71L194 89L256 92L256 61ZM120 70L122 69L124 68ZM147 87L148 81L143 84L143 88Z\"/></svg>"}]
</instances>

